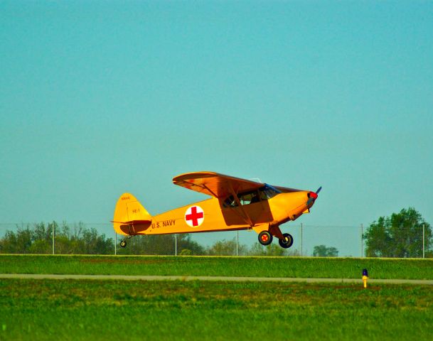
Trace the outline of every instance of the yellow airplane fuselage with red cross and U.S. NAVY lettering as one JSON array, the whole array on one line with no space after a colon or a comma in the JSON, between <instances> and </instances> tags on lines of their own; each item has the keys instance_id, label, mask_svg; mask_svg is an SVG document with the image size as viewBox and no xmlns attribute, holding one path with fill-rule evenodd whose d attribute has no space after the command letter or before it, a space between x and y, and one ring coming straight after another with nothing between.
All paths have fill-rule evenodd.
<instances>
[{"instance_id":1,"label":"yellow airplane fuselage with red cross and U.S. NAVY lettering","mask_svg":"<svg viewBox=\"0 0 433 341\"><path fill-rule=\"evenodd\" d=\"M122 234L173 234L255 229L256 232L296 220L314 205L310 191L284 193L269 185L237 197L195 202L151 217L150 222L121 225ZM313 193L315 195L315 193Z\"/></svg>"}]
</instances>

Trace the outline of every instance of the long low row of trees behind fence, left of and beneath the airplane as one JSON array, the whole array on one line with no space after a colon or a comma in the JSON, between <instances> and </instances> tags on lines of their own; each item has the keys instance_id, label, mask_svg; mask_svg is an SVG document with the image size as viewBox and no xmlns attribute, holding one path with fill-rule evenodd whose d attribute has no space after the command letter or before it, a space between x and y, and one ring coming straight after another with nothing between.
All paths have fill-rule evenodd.
<instances>
[{"instance_id":1,"label":"long low row of trees behind fence, left of and beneath the airplane","mask_svg":"<svg viewBox=\"0 0 433 341\"><path fill-rule=\"evenodd\" d=\"M54 230L54 243L53 243ZM177 239L177 241L176 241ZM114 239L100 234L95 228L84 223L66 224L63 222L41 222L17 226L15 231L8 230L0 238L0 254L114 254ZM176 250L177 244L177 250ZM127 247L117 247L117 254L149 255L220 255L236 254L236 239L215 242L204 247L191 239L190 234L155 234L135 236L128 239ZM238 244L240 256L298 256L296 250L282 249L276 244L262 247L255 243L252 247Z\"/></svg>"}]
</instances>

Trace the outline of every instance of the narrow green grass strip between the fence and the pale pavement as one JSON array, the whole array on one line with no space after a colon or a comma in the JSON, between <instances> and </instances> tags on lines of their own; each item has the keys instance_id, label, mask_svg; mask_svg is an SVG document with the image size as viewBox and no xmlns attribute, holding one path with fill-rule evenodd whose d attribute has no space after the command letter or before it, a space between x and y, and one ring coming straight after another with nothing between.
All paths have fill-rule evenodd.
<instances>
[{"instance_id":1,"label":"narrow green grass strip between the fence and the pale pavement","mask_svg":"<svg viewBox=\"0 0 433 341\"><path fill-rule=\"evenodd\" d=\"M433 259L1 255L2 274L433 279Z\"/></svg>"}]
</instances>

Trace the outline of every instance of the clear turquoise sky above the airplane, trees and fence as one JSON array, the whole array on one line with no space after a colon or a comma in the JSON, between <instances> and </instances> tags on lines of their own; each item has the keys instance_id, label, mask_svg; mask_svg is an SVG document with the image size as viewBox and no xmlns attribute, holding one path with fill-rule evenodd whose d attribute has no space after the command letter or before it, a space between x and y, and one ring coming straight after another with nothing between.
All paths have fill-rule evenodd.
<instances>
[{"instance_id":1,"label":"clear turquoise sky above the airplane, trees and fence","mask_svg":"<svg viewBox=\"0 0 433 341\"><path fill-rule=\"evenodd\" d=\"M156 215L216 171L322 185L304 224L433 223L432 134L431 1L0 2L0 222Z\"/></svg>"}]
</instances>

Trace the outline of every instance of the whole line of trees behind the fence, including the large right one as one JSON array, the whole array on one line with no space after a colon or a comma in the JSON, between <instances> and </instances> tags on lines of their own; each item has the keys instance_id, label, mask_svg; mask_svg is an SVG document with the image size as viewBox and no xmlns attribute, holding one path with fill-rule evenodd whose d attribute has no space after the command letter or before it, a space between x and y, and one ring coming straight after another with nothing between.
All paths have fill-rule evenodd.
<instances>
[{"instance_id":1,"label":"whole line of trees behind the fence, including the large right one","mask_svg":"<svg viewBox=\"0 0 433 341\"><path fill-rule=\"evenodd\" d=\"M100 234L95 228L78 224L43 222L17 226L0 238L1 254L52 254L54 230L55 254L114 254L114 239ZM177 238L177 241L176 241ZM365 256L420 258L433 257L432 228L410 207L390 217L379 217L363 234ZM117 247L117 254L177 254L179 255L235 255L236 239L220 240L205 247L191 239L191 234L159 234L128 239L126 248ZM177 244L177 250L176 250ZM282 249L276 243L263 247L258 242L251 247L237 245L240 256L300 256L296 249ZM338 256L335 247L316 245L313 256Z\"/></svg>"}]
</instances>

